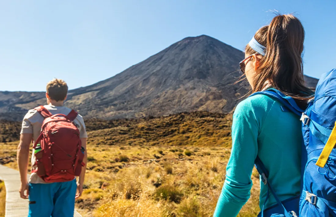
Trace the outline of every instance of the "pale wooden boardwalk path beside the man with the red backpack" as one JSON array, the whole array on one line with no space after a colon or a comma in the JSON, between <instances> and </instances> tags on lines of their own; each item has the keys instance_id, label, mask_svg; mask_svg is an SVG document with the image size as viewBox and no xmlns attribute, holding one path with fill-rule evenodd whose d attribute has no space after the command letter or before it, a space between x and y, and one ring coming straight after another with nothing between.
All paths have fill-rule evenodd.
<instances>
[{"instance_id":1,"label":"pale wooden boardwalk path beside the man with the red backpack","mask_svg":"<svg viewBox=\"0 0 336 217\"><path fill-rule=\"evenodd\" d=\"M20 188L19 172L0 165L0 179L5 182L6 187L5 217L27 217L28 200L22 199L18 192ZM81 215L75 211L74 217L81 217Z\"/></svg>"}]
</instances>

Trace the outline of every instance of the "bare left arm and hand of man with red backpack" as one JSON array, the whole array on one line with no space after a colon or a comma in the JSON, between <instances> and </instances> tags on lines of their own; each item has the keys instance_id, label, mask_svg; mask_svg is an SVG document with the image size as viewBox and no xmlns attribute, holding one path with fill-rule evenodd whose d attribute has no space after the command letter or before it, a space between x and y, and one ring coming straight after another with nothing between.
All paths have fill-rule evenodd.
<instances>
[{"instance_id":1,"label":"bare left arm and hand of man with red backpack","mask_svg":"<svg viewBox=\"0 0 336 217\"><path fill-rule=\"evenodd\" d=\"M27 170L29 165L29 147L32 141L33 135L31 133L24 133L20 136L20 143L17 147L17 166L20 172L21 186L20 186L20 196L24 199L28 198L29 195L29 185L27 180ZM27 193L25 194L25 191Z\"/></svg>"}]
</instances>

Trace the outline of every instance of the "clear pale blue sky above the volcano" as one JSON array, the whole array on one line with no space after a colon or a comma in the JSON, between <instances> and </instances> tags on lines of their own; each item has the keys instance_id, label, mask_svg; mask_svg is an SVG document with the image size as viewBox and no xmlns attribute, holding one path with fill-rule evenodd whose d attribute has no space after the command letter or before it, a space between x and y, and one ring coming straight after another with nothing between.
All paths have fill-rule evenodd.
<instances>
[{"instance_id":1,"label":"clear pale blue sky above the volcano","mask_svg":"<svg viewBox=\"0 0 336 217\"><path fill-rule=\"evenodd\" d=\"M304 72L336 68L335 0L110 0L0 2L0 90L44 91L112 77L187 36L243 50L274 13L294 12L306 31Z\"/></svg>"}]
</instances>

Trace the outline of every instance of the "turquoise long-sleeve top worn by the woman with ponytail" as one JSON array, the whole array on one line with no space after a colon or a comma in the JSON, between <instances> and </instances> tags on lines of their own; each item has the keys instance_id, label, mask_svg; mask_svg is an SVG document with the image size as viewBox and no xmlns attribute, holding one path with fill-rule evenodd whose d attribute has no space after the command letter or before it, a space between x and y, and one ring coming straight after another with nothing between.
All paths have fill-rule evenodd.
<instances>
[{"instance_id":1,"label":"turquoise long-sleeve top worn by the woman with ponytail","mask_svg":"<svg viewBox=\"0 0 336 217\"><path fill-rule=\"evenodd\" d=\"M237 216L250 197L251 175L258 155L268 180L281 201L300 193L301 121L281 104L265 95L255 95L238 104L232 125L232 151L226 179L214 217ZM267 186L260 182L260 209ZM276 204L273 196L265 208Z\"/></svg>"}]
</instances>

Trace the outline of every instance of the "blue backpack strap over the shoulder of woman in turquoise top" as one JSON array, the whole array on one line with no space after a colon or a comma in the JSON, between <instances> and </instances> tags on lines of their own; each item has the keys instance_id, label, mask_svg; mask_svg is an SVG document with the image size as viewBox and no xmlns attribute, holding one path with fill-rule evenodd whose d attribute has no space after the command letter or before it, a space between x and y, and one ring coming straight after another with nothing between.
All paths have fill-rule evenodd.
<instances>
[{"instance_id":1,"label":"blue backpack strap over the shoulder of woman in turquoise top","mask_svg":"<svg viewBox=\"0 0 336 217\"><path fill-rule=\"evenodd\" d=\"M296 104L295 100L292 97L286 96L285 94L281 93L281 91L279 91L277 89L271 88L271 89L268 89L266 91L256 92L256 93L252 94L251 96L258 95L258 94L266 95L266 96L269 96L273 99L278 100L287 109L289 109L294 114L299 115L300 117L301 117L302 113L304 112L304 110L302 110Z\"/></svg>"}]
</instances>

